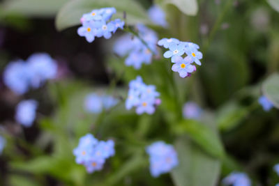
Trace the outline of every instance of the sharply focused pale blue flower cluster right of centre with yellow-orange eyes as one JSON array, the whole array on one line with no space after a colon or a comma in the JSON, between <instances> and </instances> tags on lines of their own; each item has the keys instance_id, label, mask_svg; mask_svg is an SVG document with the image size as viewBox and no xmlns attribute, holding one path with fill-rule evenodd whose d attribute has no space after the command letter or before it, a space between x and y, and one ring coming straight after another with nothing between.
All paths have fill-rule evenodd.
<instances>
[{"instance_id":1,"label":"sharply focused pale blue flower cluster right of centre with yellow-orange eyes","mask_svg":"<svg viewBox=\"0 0 279 186\"><path fill-rule=\"evenodd\" d=\"M202 59L202 52L199 52L199 46L193 42L182 42L176 38L163 38L158 41L158 45L169 49L164 53L165 58L171 58L172 70L174 72L179 72L180 77L189 77L192 72L196 70L195 65L202 65L199 61ZM187 56L183 58L183 54Z\"/></svg>"}]
</instances>

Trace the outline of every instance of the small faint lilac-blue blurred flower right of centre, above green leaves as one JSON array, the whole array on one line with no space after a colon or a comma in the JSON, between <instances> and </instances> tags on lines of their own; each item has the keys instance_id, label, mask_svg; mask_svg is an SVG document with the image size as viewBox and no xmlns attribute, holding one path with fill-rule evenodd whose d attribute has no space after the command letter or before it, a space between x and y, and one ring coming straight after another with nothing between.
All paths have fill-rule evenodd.
<instances>
[{"instance_id":1,"label":"small faint lilac-blue blurred flower right of centre, above green leaves","mask_svg":"<svg viewBox=\"0 0 279 186\"><path fill-rule=\"evenodd\" d=\"M183 106L183 117L190 119L199 119L202 115L202 109L195 102L186 102Z\"/></svg>"}]
</instances>

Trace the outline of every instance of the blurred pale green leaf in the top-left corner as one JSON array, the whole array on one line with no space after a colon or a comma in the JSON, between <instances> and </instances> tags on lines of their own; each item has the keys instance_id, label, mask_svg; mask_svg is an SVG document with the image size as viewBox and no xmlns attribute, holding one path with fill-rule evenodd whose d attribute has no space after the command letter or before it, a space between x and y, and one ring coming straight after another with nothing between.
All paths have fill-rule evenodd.
<instances>
[{"instance_id":1,"label":"blurred pale green leaf in the top-left corner","mask_svg":"<svg viewBox=\"0 0 279 186\"><path fill-rule=\"evenodd\" d=\"M31 17L53 17L69 0L6 0L4 13L15 13Z\"/></svg>"}]
</instances>

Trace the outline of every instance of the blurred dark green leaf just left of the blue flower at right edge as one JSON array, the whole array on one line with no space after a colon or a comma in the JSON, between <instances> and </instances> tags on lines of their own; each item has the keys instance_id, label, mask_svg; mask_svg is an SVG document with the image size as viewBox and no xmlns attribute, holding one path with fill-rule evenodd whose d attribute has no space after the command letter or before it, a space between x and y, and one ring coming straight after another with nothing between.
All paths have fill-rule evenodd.
<instances>
[{"instance_id":1,"label":"blurred dark green leaf just left of the blue flower at right edge","mask_svg":"<svg viewBox=\"0 0 279 186\"><path fill-rule=\"evenodd\" d=\"M220 130L230 130L238 125L249 113L248 108L236 102L228 102L217 112L217 123Z\"/></svg>"}]
</instances>

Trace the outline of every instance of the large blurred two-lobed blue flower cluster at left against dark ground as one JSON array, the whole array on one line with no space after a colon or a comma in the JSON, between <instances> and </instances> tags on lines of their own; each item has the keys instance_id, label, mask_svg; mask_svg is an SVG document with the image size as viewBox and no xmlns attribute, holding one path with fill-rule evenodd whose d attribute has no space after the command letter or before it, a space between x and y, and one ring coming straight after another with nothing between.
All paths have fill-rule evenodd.
<instances>
[{"instance_id":1,"label":"large blurred two-lobed blue flower cluster at left against dark ground","mask_svg":"<svg viewBox=\"0 0 279 186\"><path fill-rule=\"evenodd\" d=\"M30 87L38 88L47 79L56 77L57 64L45 53L33 54L27 61L9 63L3 72L3 81L13 92L26 93Z\"/></svg>"}]
</instances>

